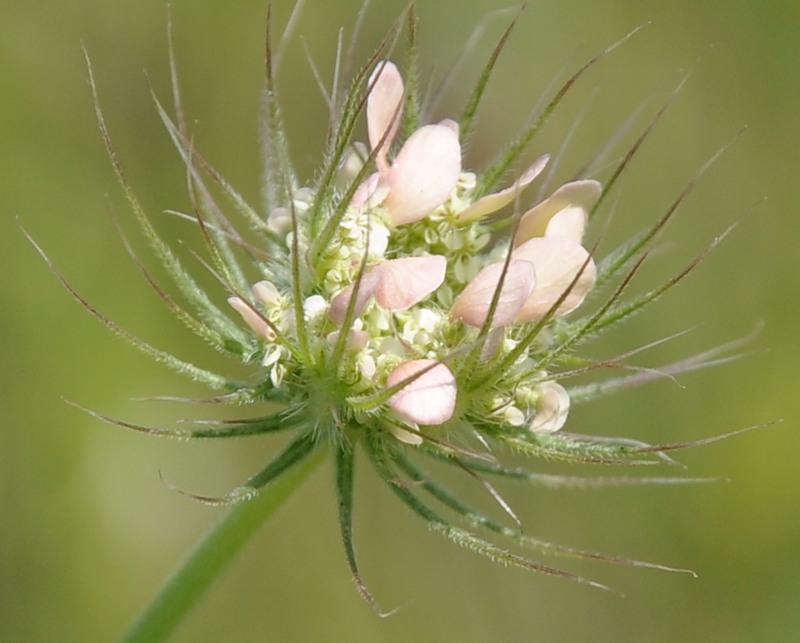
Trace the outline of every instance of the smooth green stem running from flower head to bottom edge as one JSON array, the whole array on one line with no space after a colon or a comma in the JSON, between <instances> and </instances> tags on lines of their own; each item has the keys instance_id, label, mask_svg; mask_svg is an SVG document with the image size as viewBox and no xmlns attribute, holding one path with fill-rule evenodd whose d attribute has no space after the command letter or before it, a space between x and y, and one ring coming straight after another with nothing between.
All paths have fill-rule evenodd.
<instances>
[{"instance_id":1,"label":"smooth green stem running from flower head to bottom edge","mask_svg":"<svg viewBox=\"0 0 800 643\"><path fill-rule=\"evenodd\" d=\"M231 507L167 580L122 636L122 643L166 641L220 573L323 460L325 449L298 462L259 494Z\"/></svg>"}]
</instances>

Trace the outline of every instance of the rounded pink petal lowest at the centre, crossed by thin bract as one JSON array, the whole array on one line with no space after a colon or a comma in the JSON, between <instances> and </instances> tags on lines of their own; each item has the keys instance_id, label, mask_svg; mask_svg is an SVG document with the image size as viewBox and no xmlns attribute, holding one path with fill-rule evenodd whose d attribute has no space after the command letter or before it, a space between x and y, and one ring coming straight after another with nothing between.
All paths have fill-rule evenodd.
<instances>
[{"instance_id":1,"label":"rounded pink petal lowest at the centre, crossed by thin bract","mask_svg":"<svg viewBox=\"0 0 800 643\"><path fill-rule=\"evenodd\" d=\"M456 378L447 366L432 359L415 359L397 366L386 380L389 387L430 369L389 398L394 411L415 424L442 424L456 408Z\"/></svg>"}]
</instances>

